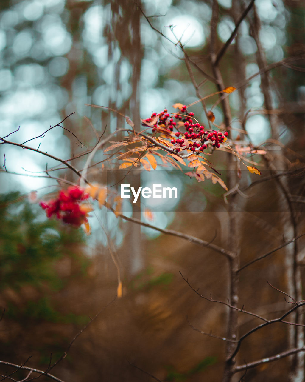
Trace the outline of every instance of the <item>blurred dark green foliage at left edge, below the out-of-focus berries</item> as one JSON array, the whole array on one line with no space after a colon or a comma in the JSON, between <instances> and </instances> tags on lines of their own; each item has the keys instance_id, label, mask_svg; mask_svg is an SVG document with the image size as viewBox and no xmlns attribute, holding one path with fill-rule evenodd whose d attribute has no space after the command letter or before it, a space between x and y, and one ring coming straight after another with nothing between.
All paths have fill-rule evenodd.
<instances>
[{"instance_id":1,"label":"blurred dark green foliage at left edge, below the out-of-focus berries","mask_svg":"<svg viewBox=\"0 0 305 382\"><path fill-rule=\"evenodd\" d=\"M24 323L87 322L87 317L56 311L51 299L54 292L64 288L72 277L84 274L87 268L87 259L76 258L73 251L84 242L82 230L47 219L39 206L29 204L19 193L0 195L0 219L0 291L14 290L19 300L18 303L8 299L5 317ZM66 257L71 258L72 264L77 263L77 271L73 276L60 277L56 262ZM26 286L30 286L30 293L19 298Z\"/></svg>"}]
</instances>

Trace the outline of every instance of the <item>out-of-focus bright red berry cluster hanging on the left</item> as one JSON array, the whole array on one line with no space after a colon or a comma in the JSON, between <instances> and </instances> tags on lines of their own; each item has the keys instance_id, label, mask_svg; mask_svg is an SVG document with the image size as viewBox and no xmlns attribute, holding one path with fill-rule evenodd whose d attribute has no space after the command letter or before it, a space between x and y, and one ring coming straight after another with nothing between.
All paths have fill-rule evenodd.
<instances>
[{"instance_id":1,"label":"out-of-focus bright red berry cluster hanging on the left","mask_svg":"<svg viewBox=\"0 0 305 382\"><path fill-rule=\"evenodd\" d=\"M40 202L39 205L46 210L47 217L56 215L63 222L80 227L82 223L88 222L88 208L79 203L88 197L89 194L82 188L71 186L67 191L61 190L57 199Z\"/></svg>"}]
</instances>

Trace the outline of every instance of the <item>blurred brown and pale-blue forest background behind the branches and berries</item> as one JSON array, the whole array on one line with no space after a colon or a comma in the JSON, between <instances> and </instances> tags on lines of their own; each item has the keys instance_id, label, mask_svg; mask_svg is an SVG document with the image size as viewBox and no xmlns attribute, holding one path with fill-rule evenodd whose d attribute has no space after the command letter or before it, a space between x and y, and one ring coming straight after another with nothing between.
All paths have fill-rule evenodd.
<instances>
[{"instance_id":1,"label":"blurred brown and pale-blue forest background behind the branches and berries","mask_svg":"<svg viewBox=\"0 0 305 382\"><path fill-rule=\"evenodd\" d=\"M2 0L0 136L20 126L9 139L22 143L74 113L63 123L69 131L57 126L44 138L29 143L68 159L95 145L96 136L88 119L99 134L104 129L109 134L128 127L125 119L116 113L85 104L118 110L132 118L140 131L140 118L148 118L152 112L164 108L174 112L172 105L176 102L187 105L196 101L198 95L183 52L175 43L179 39L185 45L194 63L197 84L205 79L203 72L212 76L209 55L212 2L142 0L137 4L127 0ZM220 49L245 6L234 0L233 3L218 0L218 4L216 44ZM174 43L157 33L141 10L152 26ZM259 24L258 36L254 19ZM256 0L255 15L252 10L242 21L238 36L220 63L225 86L239 85L238 91L229 97L233 139L246 139L258 145L274 138L270 118L262 112L266 95L260 76L249 82L246 79L261 69L258 42L266 65L304 52L304 20L305 7L301 0ZM299 60L291 64L297 70L287 64L268 74L272 108L278 117L277 138L285 147L287 163L284 162L288 168L303 163L303 63ZM200 88L202 95L215 91L212 81ZM206 101L208 110L217 97ZM207 124L200 103L192 111L201 123ZM221 125L221 106L213 112L215 122ZM88 317L116 295L116 268L100 220L120 259L123 298L90 325L52 373L75 382L152 380L147 373L164 381L220 380L224 344L192 330L188 320L200 330L213 330L222 336L226 310L201 300L179 271L195 288L200 287L202 294L209 297L212 293L213 297L226 301L225 259L178 238L119 221L104 210L96 212L99 220L95 215L90 218L89 237L81 228L75 230L47 220L36 199L33 201L28 195L37 191L40 200L58 189L56 181L40 176L46 162L48 168L58 162L46 161L42 155L20 147L1 145L2 165L4 154L8 172L19 175L0 173L0 306L6 309L0 323L3 344L0 359L22 364L32 354L28 366L47 367L50 354L55 361L88 322ZM103 158L102 152L95 156L96 162ZM258 156L252 159L263 165ZM225 153L213 154L212 162L226 174ZM80 158L72 163L82 168L84 160ZM64 169L57 174L77 181ZM101 165L90 176L100 181ZM170 212L155 214L153 224L208 241L214 238L216 244L226 247L228 214L223 189L208 181L204 185L195 183L194 179L177 172L170 174L170 170L166 176L172 184L182 184L183 193ZM248 173L244 176L248 183L254 179ZM291 178L290 186L292 194L302 196L300 178ZM242 202L248 211L241 218L239 244L243 262L267 252L283 239L283 226L278 218L281 198L274 193L274 187L269 182L252 188L250 196L254 199L246 203L248 210ZM190 206L191 212L175 212L183 210L183 206ZM302 206L297 205L300 227L304 225ZM146 219L143 214L142 219ZM302 248L301 243L300 252ZM241 275L240 301L247 303L248 310L272 316L286 309L278 293L270 291L268 285L261 286L268 278L278 287L285 287L285 262L281 256L280 252L268 258L263 266L254 265ZM255 324L256 321L241 317L241 330ZM274 339L268 344L264 343L266 333ZM245 343L240 362L272 355L286 347L287 329L275 326L268 332L255 334ZM2 369L3 374L6 370ZM282 360L249 371L247 380L286 381L287 370L288 361ZM22 371L15 374L16 379L25 376Z\"/></svg>"}]
</instances>

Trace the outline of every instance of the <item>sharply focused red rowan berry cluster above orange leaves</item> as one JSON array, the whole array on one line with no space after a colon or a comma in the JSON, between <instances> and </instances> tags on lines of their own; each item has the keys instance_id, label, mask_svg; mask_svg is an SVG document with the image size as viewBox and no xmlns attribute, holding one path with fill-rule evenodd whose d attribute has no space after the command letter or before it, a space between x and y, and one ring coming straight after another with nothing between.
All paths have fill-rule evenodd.
<instances>
[{"instance_id":1,"label":"sharply focused red rowan berry cluster above orange leaves","mask_svg":"<svg viewBox=\"0 0 305 382\"><path fill-rule=\"evenodd\" d=\"M181 114L185 113L185 115ZM150 118L143 120L144 126L153 126L152 133L160 130L160 128L165 129L169 133L173 131L174 128L177 129L175 136L177 138L171 139L173 149L176 152L189 150L189 151L204 151L207 149L208 145L211 147L219 148L220 144L223 143L226 137L229 135L227 131L222 133L217 130L204 131L204 126L200 125L198 122L193 122L192 117L194 113L188 113L186 106L181 107L181 112L174 115L174 118L177 122L174 121L174 118L170 116L167 112L167 109L164 109L161 113L152 113ZM183 126L186 132L181 133L179 129ZM146 125L147 124L147 125ZM181 136L181 137L180 137Z\"/></svg>"}]
</instances>

